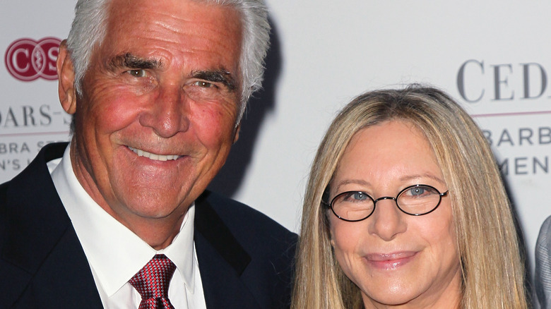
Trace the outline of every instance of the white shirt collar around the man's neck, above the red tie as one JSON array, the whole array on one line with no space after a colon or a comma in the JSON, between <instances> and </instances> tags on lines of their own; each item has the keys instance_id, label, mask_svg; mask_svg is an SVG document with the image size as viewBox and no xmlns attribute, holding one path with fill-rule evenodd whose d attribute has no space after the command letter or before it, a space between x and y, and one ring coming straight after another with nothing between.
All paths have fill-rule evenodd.
<instances>
[{"instance_id":1,"label":"white shirt collar around the man's neck, above the red tie","mask_svg":"<svg viewBox=\"0 0 551 309\"><path fill-rule=\"evenodd\" d=\"M54 166L55 162L49 164L52 180L90 267L94 269L107 295L112 296L117 292L157 253L167 255L174 262L186 289L194 293L197 268L194 265L194 204L189 207L179 234L170 246L157 251L90 198L74 174L70 149L71 145L57 166Z\"/></svg>"}]
</instances>

